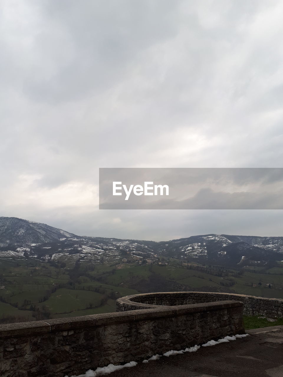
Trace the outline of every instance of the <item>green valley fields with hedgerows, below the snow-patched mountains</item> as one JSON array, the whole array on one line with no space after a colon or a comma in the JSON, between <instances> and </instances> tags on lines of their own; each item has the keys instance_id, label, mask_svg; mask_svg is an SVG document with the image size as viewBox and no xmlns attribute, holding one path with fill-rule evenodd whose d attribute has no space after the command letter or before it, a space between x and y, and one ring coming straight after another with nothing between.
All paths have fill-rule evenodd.
<instances>
[{"instance_id":1,"label":"green valley fields with hedgerows, below the snow-patched mountains","mask_svg":"<svg viewBox=\"0 0 283 377\"><path fill-rule=\"evenodd\" d=\"M168 265L66 264L0 261L0 322L115 311L118 297L172 290L206 290L283 298L283 264L242 271L184 263ZM3 289L3 286L5 287Z\"/></svg>"}]
</instances>

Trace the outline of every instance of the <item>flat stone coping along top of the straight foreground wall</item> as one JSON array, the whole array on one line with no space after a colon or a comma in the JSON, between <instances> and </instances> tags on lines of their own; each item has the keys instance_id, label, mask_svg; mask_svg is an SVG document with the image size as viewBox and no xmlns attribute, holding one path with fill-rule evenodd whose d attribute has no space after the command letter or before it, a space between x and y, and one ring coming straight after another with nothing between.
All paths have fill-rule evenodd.
<instances>
[{"instance_id":1,"label":"flat stone coping along top of the straight foreground wall","mask_svg":"<svg viewBox=\"0 0 283 377\"><path fill-rule=\"evenodd\" d=\"M176 293L175 293L176 294ZM134 295L136 296L136 295ZM131 297L131 296L127 296ZM133 303L129 301L130 303ZM146 305L147 304L139 304ZM189 305L160 306L155 308L129 310L124 312L113 312L103 314L92 314L88 316L47 319L33 322L18 322L0 325L0 337L32 336L51 332L67 331L82 327L117 325L118 323L150 320L160 317L172 317L184 314L198 313L202 311L221 310L231 307L242 307L240 301L225 300L206 302Z\"/></svg>"}]
</instances>

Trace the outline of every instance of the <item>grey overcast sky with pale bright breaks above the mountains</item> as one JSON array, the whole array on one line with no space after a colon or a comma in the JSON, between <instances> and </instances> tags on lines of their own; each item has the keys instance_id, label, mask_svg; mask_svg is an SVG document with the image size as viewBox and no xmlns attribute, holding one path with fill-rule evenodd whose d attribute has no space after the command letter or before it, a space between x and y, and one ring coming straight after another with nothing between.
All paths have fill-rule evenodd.
<instances>
[{"instance_id":1,"label":"grey overcast sky with pale bright breaks above the mountains","mask_svg":"<svg viewBox=\"0 0 283 377\"><path fill-rule=\"evenodd\" d=\"M99 167L282 167L280 0L2 0L0 216L283 236L282 210L98 210Z\"/></svg>"}]
</instances>

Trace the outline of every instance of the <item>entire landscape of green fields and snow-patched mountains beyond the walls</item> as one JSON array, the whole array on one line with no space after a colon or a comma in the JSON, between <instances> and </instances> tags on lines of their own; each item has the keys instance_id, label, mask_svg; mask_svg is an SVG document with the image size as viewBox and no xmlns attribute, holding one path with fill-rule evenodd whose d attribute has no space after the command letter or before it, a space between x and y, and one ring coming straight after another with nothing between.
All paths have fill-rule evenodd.
<instances>
[{"instance_id":1,"label":"entire landscape of green fields and snow-patched mountains beyond the walls","mask_svg":"<svg viewBox=\"0 0 283 377\"><path fill-rule=\"evenodd\" d=\"M206 234L155 242L83 237L0 218L1 323L112 312L119 297L156 291L282 299L283 238Z\"/></svg>"}]
</instances>

